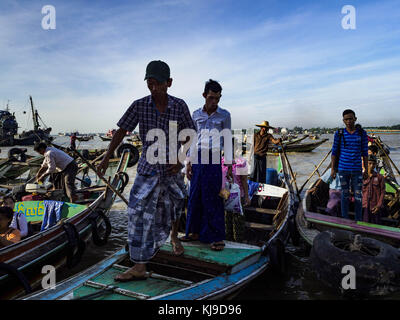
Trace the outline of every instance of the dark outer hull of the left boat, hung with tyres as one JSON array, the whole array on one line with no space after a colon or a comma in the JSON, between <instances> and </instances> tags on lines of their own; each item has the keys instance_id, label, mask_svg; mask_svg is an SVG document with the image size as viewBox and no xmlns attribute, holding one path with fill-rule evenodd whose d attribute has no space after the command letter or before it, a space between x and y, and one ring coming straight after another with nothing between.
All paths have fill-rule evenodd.
<instances>
[{"instance_id":1,"label":"dark outer hull of the left boat, hung with tyres","mask_svg":"<svg viewBox=\"0 0 400 320\"><path fill-rule=\"evenodd\" d=\"M128 161L129 155L124 153L117 171L125 171ZM121 184L120 178L115 176L112 184L118 188ZM66 219L65 223L75 226L81 239L86 241L91 234L90 216L92 212L102 211L107 214L114 199L115 194L110 189L106 189L86 209ZM100 222L100 218L97 218L96 223ZM44 265L60 267L65 264L68 242L63 225L57 224L46 231L2 248L0 262L22 272L32 289L36 289L43 277L41 269ZM24 294L26 293L20 280L14 279L8 273L0 270L0 298L13 299Z\"/></svg>"}]
</instances>

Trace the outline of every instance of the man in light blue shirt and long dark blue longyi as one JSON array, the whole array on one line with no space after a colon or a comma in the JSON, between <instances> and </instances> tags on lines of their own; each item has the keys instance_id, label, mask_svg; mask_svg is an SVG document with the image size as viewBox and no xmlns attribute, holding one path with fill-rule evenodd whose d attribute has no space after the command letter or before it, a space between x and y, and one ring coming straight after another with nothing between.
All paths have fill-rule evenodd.
<instances>
[{"instance_id":1,"label":"man in light blue shirt and long dark blue longyi","mask_svg":"<svg viewBox=\"0 0 400 320\"><path fill-rule=\"evenodd\" d=\"M207 81L203 92L205 104L193 112L198 142L192 145L186 166L190 195L186 236L181 238L182 241L211 243L211 249L216 251L223 250L225 246L224 202L219 196L222 184L221 151L225 145L227 174L233 180L231 114L218 105L221 92L222 87L217 81ZM226 136L222 138L224 133Z\"/></svg>"}]
</instances>

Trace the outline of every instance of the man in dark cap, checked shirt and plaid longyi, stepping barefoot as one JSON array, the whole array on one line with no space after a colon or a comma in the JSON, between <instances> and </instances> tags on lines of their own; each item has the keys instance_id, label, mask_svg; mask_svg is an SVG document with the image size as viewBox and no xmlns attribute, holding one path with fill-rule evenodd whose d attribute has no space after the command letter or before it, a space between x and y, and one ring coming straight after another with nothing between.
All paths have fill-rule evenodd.
<instances>
[{"instance_id":1,"label":"man in dark cap, checked shirt and plaid longyi, stepping barefoot","mask_svg":"<svg viewBox=\"0 0 400 320\"><path fill-rule=\"evenodd\" d=\"M146 279L146 263L165 243L171 228L174 254L182 255L184 251L177 237L179 215L183 211L185 198L185 184L180 173L183 165L176 160L180 143L176 144L175 141L177 148L172 150L169 132L172 127L178 134L183 129L195 130L195 124L185 101L167 94L172 79L165 62L150 62L146 68L145 80L151 95L134 101L119 120L119 129L113 135L108 151L98 166L99 173L104 174L114 150L126 133L134 131L139 124L143 150L128 205L129 253L135 265L118 274L116 281ZM152 134L155 131L165 136L166 144L160 142L161 136L156 136L158 139L154 142ZM150 136L153 141L146 139ZM158 149L152 153L153 145L158 145ZM171 157L175 160L171 161Z\"/></svg>"}]
</instances>

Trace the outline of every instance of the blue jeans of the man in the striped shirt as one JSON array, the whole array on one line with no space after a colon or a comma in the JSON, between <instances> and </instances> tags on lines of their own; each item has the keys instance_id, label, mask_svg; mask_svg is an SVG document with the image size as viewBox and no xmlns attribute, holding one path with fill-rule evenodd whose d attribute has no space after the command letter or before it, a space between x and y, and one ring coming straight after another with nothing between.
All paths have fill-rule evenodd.
<instances>
[{"instance_id":1,"label":"blue jeans of the man in the striped shirt","mask_svg":"<svg viewBox=\"0 0 400 320\"><path fill-rule=\"evenodd\" d=\"M339 170L340 186L342 188L341 207L342 217L349 218L350 185L354 192L356 221L362 221L362 171Z\"/></svg>"}]
</instances>

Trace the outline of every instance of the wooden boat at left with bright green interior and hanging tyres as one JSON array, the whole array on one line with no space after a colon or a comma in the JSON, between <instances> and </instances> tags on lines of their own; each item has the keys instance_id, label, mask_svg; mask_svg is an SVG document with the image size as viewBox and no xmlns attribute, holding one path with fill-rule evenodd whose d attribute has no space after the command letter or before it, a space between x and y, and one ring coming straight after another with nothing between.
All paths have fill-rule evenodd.
<instances>
[{"instance_id":1,"label":"wooden boat at left with bright green interior and hanging tyres","mask_svg":"<svg viewBox=\"0 0 400 320\"><path fill-rule=\"evenodd\" d=\"M130 152L124 150L110 182L120 191L127 184L127 175L124 173L129 158ZM1 299L16 298L37 288L43 277L41 270L44 265L60 267L65 263L68 266L76 264L84 250L84 241L90 234L95 243L104 244L106 238L99 238L97 226L102 221L107 225L106 214L115 194L105 186L95 186L77 190L77 195L77 203L64 202L60 222L44 231L40 231L44 202L16 203L15 209L25 214L34 232L18 243L0 248ZM61 200L60 197L62 194L57 194L56 190L51 199Z\"/></svg>"}]
</instances>

